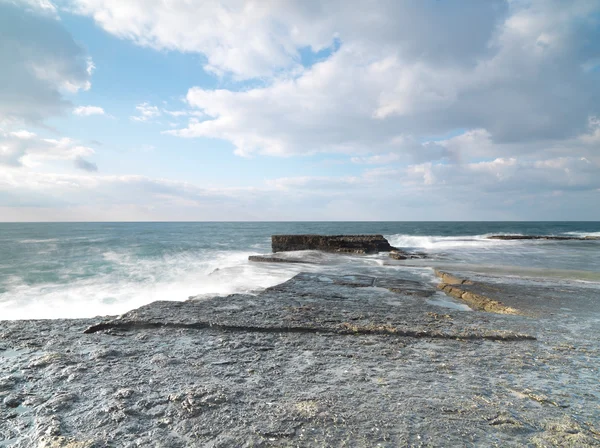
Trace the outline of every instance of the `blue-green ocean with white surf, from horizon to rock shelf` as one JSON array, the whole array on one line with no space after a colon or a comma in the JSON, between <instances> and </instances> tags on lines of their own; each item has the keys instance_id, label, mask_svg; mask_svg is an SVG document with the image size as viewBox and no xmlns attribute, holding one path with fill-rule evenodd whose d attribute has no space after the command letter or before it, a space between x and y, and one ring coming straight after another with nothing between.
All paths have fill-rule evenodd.
<instances>
[{"instance_id":1,"label":"blue-green ocean with white surf, from horizon to rock shelf","mask_svg":"<svg viewBox=\"0 0 600 448\"><path fill-rule=\"evenodd\" d=\"M250 263L282 233L380 233L427 260L285 254ZM600 236L599 222L0 223L0 319L121 314L155 300L253 294L301 271L434 281L433 267L561 279L600 292L600 241L495 241L492 234Z\"/></svg>"}]
</instances>

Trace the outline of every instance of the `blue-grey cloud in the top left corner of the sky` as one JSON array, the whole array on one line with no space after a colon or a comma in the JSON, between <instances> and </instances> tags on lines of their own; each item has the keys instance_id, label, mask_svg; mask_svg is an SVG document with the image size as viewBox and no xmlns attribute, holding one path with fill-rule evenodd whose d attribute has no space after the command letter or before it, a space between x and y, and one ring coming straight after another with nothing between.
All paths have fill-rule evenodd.
<instances>
[{"instance_id":1,"label":"blue-grey cloud in the top left corner of the sky","mask_svg":"<svg viewBox=\"0 0 600 448\"><path fill-rule=\"evenodd\" d=\"M0 124L66 112L63 92L90 87L90 60L47 1L0 1Z\"/></svg>"}]
</instances>

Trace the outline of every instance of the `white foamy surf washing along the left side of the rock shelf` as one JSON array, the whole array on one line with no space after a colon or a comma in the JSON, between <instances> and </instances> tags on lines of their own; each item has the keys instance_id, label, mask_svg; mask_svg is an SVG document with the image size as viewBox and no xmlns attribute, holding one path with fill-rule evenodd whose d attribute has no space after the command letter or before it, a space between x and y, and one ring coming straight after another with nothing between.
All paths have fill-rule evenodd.
<instances>
[{"instance_id":1,"label":"white foamy surf washing along the left side of the rock shelf","mask_svg":"<svg viewBox=\"0 0 600 448\"><path fill-rule=\"evenodd\" d=\"M102 270L87 276L85 271L93 267L71 266L60 273L60 281L37 284L11 276L0 285L0 316L17 320L118 315L157 300L254 293L301 269L249 263L251 254L210 251L140 259L131 252L109 251L103 254Z\"/></svg>"}]
</instances>

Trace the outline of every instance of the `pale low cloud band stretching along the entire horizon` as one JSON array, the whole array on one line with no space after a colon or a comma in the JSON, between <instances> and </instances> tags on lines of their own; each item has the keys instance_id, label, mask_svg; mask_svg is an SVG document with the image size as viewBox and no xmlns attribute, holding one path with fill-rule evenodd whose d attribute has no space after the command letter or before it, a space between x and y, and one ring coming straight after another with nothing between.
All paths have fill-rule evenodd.
<instances>
[{"instance_id":1,"label":"pale low cloud band stretching along the entire horizon","mask_svg":"<svg viewBox=\"0 0 600 448\"><path fill-rule=\"evenodd\" d=\"M599 199L600 164L577 157L428 162L244 188L0 166L0 212L17 220L599 219L589 207Z\"/></svg>"}]
</instances>

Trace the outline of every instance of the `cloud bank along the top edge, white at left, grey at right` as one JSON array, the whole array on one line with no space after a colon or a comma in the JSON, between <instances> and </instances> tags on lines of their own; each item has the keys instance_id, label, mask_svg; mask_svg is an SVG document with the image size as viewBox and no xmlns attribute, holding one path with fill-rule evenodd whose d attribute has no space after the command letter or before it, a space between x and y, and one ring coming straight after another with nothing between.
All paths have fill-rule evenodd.
<instances>
[{"instance_id":1,"label":"cloud bank along the top edge, white at left, grey at right","mask_svg":"<svg viewBox=\"0 0 600 448\"><path fill-rule=\"evenodd\" d=\"M157 50L200 53L205 69L238 79L301 70L301 51L342 40L365 52L402 42L406 58L473 63L488 50L506 2L73 0L109 33ZM425 31L426 30L426 31ZM434 32L434 30L441 30Z\"/></svg>"}]
</instances>

